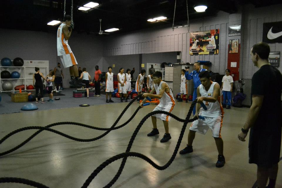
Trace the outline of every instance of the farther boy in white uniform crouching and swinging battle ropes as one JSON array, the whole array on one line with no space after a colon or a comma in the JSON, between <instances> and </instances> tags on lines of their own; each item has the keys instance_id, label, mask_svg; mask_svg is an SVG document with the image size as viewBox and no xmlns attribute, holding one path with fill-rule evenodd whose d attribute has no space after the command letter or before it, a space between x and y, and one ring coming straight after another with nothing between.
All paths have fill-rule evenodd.
<instances>
[{"instance_id":1,"label":"farther boy in white uniform crouching and swinging battle ropes","mask_svg":"<svg viewBox=\"0 0 282 188\"><path fill-rule=\"evenodd\" d=\"M153 94L155 91L157 94ZM143 104L146 102L146 100L148 100L147 97L153 97L160 100L160 104L157 105L157 107L153 111L163 110L171 113L175 105L175 100L173 98L172 90L169 88L167 83L162 81L162 73L160 71L156 71L153 74L153 88L151 92L144 93L142 97L144 97L144 100L140 103L141 108L143 107ZM168 122L171 119L171 117L166 114L155 114L152 115L151 117L152 117L153 130L149 134L147 134L147 136L154 136L159 134L159 130L157 129L157 118L158 118L163 121L164 130L165 130L165 134L161 139L161 142L169 141L171 139L171 136L168 130Z\"/></svg>"}]
</instances>

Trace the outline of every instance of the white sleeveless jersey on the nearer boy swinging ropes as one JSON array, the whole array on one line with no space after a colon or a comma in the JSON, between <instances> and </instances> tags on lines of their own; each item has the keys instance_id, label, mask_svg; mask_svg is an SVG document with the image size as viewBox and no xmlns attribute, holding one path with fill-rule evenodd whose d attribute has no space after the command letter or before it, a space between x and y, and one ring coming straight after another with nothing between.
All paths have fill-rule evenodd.
<instances>
[{"instance_id":1,"label":"white sleeveless jersey on the nearer boy swinging ropes","mask_svg":"<svg viewBox=\"0 0 282 188\"><path fill-rule=\"evenodd\" d=\"M214 92L214 85L216 82L212 82L210 88L208 91L206 91L205 87L201 84L200 87L200 94L202 97L212 97ZM206 117L218 117L220 114L223 115L224 111L221 106L221 98L220 96L217 97L217 100L215 103L203 101L203 103L207 106L207 110L204 110L201 108L200 115L206 116Z\"/></svg>"}]
</instances>

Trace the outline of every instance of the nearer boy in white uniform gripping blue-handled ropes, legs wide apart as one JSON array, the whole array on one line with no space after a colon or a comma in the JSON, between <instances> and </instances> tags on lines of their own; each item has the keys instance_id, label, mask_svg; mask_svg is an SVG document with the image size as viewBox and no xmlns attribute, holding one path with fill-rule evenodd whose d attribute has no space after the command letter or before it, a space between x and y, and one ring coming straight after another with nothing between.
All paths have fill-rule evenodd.
<instances>
[{"instance_id":1,"label":"nearer boy in white uniform gripping blue-handled ropes, legs wide apart","mask_svg":"<svg viewBox=\"0 0 282 188\"><path fill-rule=\"evenodd\" d=\"M205 135L210 128L219 154L216 167L223 167L225 158L223 156L223 140L220 133L224 111L221 106L220 86L218 83L212 82L208 71L201 72L199 78L202 84L197 88L197 104L194 117L203 116L204 119L198 119L192 123L189 129L187 147L181 150L179 154L193 152L192 143L196 132ZM200 108L200 103L204 103L207 106L207 110Z\"/></svg>"}]
</instances>

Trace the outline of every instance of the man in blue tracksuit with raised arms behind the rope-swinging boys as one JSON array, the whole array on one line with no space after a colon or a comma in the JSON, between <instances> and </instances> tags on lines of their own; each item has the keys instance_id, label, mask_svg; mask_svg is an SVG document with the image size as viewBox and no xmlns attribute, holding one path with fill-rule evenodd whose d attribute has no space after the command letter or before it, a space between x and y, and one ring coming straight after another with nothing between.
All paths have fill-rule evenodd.
<instances>
[{"instance_id":1,"label":"man in blue tracksuit with raised arms behind the rope-swinging boys","mask_svg":"<svg viewBox=\"0 0 282 188\"><path fill-rule=\"evenodd\" d=\"M189 74L189 68L186 69L185 77L187 80L193 79L193 83L194 83L193 101L194 101L197 98L197 88L199 85L201 85L199 73L207 69L201 68L199 62L195 62L193 68L194 70L190 74ZM195 113L196 113L196 105L194 106L193 109L193 115L195 115Z\"/></svg>"}]
</instances>

